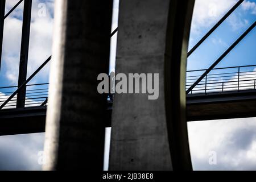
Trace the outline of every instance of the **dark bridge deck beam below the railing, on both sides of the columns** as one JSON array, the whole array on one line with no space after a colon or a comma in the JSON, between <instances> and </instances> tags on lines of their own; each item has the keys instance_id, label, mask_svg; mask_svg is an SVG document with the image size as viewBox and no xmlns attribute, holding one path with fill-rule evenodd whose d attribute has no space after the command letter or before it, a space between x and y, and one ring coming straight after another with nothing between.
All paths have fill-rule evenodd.
<instances>
[{"instance_id":1,"label":"dark bridge deck beam below the railing, on both sides of the columns","mask_svg":"<svg viewBox=\"0 0 256 182\"><path fill-rule=\"evenodd\" d=\"M256 117L256 90L192 94L187 96L187 120L205 121ZM106 111L105 126L111 127L112 103ZM42 133L46 106L6 109L0 112L0 135Z\"/></svg>"}]
</instances>

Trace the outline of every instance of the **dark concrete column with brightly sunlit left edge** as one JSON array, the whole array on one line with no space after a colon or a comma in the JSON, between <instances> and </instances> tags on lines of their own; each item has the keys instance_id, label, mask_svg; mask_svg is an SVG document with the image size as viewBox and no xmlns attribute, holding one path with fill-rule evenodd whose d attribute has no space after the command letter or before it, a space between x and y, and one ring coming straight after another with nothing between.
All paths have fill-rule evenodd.
<instances>
[{"instance_id":1,"label":"dark concrete column with brightly sunlit left edge","mask_svg":"<svg viewBox=\"0 0 256 182\"><path fill-rule=\"evenodd\" d=\"M55 1L44 170L103 169L112 0Z\"/></svg>"}]
</instances>

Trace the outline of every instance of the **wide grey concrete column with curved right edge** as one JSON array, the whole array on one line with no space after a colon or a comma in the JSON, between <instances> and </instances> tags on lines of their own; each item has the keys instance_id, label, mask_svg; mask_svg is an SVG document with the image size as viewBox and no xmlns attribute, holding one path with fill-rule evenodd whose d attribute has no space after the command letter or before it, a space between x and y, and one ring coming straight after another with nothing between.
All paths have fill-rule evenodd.
<instances>
[{"instance_id":1,"label":"wide grey concrete column with curved right edge","mask_svg":"<svg viewBox=\"0 0 256 182\"><path fill-rule=\"evenodd\" d=\"M122 0L116 73L159 73L159 98L115 94L110 170L190 170L185 67L193 1Z\"/></svg>"}]
</instances>

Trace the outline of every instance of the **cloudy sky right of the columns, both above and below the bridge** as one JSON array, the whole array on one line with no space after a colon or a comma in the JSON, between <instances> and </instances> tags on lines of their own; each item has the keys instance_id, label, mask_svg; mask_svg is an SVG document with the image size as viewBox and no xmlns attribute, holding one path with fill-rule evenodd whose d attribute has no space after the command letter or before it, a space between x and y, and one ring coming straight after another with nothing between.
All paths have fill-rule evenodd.
<instances>
[{"instance_id":1,"label":"cloudy sky right of the columns, both above and below the bridge","mask_svg":"<svg viewBox=\"0 0 256 182\"><path fill-rule=\"evenodd\" d=\"M191 49L237 1L197 0L193 13ZM187 69L207 69L256 20L255 0L245 1L189 57ZM216 68L256 64L256 28ZM188 123L195 170L256 170L256 119L224 119ZM217 154L210 165L209 154Z\"/></svg>"}]
</instances>

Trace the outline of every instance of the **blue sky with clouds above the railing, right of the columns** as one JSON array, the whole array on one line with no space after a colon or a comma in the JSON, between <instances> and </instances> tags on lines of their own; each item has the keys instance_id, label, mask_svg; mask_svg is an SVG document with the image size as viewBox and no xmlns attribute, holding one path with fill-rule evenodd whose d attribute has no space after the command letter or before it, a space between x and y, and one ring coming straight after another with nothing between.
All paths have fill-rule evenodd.
<instances>
[{"instance_id":1,"label":"blue sky with clouds above the railing, right of the columns","mask_svg":"<svg viewBox=\"0 0 256 182\"><path fill-rule=\"evenodd\" d=\"M189 49L237 2L197 1L194 12ZM199 5L201 3L201 5ZM221 8L219 7L221 6ZM205 9L206 11L200 10ZM197 15L198 14L198 15ZM256 20L255 0L246 1L238 7L212 35L188 58L187 69L207 69L238 39ZM227 55L216 68L256 64L256 28Z\"/></svg>"}]
</instances>

